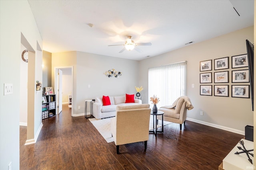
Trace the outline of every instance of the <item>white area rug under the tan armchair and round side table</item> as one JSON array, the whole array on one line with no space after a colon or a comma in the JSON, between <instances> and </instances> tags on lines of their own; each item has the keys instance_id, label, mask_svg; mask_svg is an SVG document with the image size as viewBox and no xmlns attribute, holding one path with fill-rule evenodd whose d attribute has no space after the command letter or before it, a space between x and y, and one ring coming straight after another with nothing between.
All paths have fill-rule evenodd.
<instances>
[{"instance_id":1,"label":"white area rug under the tan armchair and round side table","mask_svg":"<svg viewBox=\"0 0 256 170\"><path fill-rule=\"evenodd\" d=\"M102 137L104 137L104 139L107 141L107 143L114 141L114 138L112 137L112 134L110 132L110 119L111 117L100 119L100 120L96 120L95 118L89 119L90 122L94 125L94 127L99 131L100 135L102 135ZM161 127L162 121L159 120L158 124L159 125L157 125L157 127ZM171 122L164 121L164 126L168 124L171 124ZM153 129L153 116L150 115L149 130L152 130L152 129Z\"/></svg>"}]
</instances>

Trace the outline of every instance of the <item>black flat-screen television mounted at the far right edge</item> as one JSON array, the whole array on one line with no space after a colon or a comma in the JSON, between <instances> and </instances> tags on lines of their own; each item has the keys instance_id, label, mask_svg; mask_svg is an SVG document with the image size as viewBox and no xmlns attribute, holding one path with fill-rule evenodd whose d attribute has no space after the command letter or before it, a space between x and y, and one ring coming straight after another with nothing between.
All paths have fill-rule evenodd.
<instances>
[{"instance_id":1,"label":"black flat-screen television mounted at the far right edge","mask_svg":"<svg viewBox=\"0 0 256 170\"><path fill-rule=\"evenodd\" d=\"M248 56L248 67L249 67L249 81L250 81L250 90L251 90L251 99L252 99L252 111L253 111L253 75L254 75L254 45L246 39L246 48Z\"/></svg>"}]
</instances>

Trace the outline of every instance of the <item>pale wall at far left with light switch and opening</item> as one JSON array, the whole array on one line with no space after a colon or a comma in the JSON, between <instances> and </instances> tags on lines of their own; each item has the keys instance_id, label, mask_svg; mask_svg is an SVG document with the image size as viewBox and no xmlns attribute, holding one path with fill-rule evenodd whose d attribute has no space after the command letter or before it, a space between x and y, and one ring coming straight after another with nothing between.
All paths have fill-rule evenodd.
<instances>
[{"instance_id":1,"label":"pale wall at far left with light switch and opening","mask_svg":"<svg viewBox=\"0 0 256 170\"><path fill-rule=\"evenodd\" d=\"M35 80L42 80L42 77L38 77L42 74L42 67L38 68L38 64L42 65L40 60L42 55L38 52L38 46L42 47L42 39L28 1L0 0L0 23L0 89L4 89L4 83L13 84L13 94L4 96L4 90L0 90L0 169L7 169L8 164L12 162L12 169L18 170L20 168L20 98L22 98L20 96L21 42L26 49L32 51L33 56L36 57L35 61L38 62L34 66L34 78L31 82L35 100L30 103L31 107L36 109L31 113L34 126L30 132L35 137L42 123L42 114L40 114L42 93L36 94L35 91ZM38 109L40 106L41 109Z\"/></svg>"}]
</instances>

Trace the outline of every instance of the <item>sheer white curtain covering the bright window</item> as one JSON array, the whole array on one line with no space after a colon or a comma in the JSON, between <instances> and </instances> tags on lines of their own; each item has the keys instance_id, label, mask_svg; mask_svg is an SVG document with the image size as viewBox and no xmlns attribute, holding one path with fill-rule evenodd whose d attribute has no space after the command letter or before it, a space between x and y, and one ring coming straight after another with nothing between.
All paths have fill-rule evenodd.
<instances>
[{"instance_id":1,"label":"sheer white curtain covering the bright window","mask_svg":"<svg viewBox=\"0 0 256 170\"><path fill-rule=\"evenodd\" d=\"M159 102L156 105L172 105L180 96L186 95L186 61L164 66L148 68L148 103L150 97L156 95Z\"/></svg>"}]
</instances>

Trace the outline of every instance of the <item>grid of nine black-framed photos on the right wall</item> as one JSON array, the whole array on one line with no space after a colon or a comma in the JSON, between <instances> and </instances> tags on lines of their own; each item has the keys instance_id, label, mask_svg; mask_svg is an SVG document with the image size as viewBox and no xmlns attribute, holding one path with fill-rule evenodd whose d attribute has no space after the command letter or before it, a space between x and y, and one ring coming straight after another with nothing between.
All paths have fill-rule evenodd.
<instances>
[{"instance_id":1,"label":"grid of nine black-framed photos on the right wall","mask_svg":"<svg viewBox=\"0 0 256 170\"><path fill-rule=\"evenodd\" d=\"M231 97L250 98L247 54L232 56L229 67L229 57L200 61L200 95L229 97L231 89Z\"/></svg>"}]
</instances>

